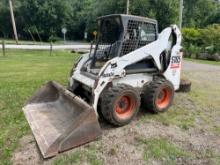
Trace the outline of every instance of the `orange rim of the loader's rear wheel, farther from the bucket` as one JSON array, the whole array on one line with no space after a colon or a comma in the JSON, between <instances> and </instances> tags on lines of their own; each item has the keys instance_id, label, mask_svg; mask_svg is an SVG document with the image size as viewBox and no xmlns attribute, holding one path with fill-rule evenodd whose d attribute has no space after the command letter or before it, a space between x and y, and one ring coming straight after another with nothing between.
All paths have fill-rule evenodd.
<instances>
[{"instance_id":1,"label":"orange rim of the loader's rear wheel, farther from the bucket","mask_svg":"<svg viewBox=\"0 0 220 165\"><path fill-rule=\"evenodd\" d=\"M164 109L170 104L171 90L167 87L163 88L156 99L156 105L159 109Z\"/></svg>"}]
</instances>

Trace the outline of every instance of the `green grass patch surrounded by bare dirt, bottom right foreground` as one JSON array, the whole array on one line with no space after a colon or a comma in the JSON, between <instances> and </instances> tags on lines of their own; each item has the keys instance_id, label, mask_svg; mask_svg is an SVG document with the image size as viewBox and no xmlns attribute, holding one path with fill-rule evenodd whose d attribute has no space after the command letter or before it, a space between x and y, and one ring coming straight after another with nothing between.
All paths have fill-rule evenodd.
<instances>
[{"instance_id":1,"label":"green grass patch surrounded by bare dirt, bottom right foreground","mask_svg":"<svg viewBox=\"0 0 220 165\"><path fill-rule=\"evenodd\" d=\"M177 145L164 138L137 139L138 143L144 145L144 160L150 159L163 161L163 164L176 164L177 158L190 157Z\"/></svg>"}]
</instances>

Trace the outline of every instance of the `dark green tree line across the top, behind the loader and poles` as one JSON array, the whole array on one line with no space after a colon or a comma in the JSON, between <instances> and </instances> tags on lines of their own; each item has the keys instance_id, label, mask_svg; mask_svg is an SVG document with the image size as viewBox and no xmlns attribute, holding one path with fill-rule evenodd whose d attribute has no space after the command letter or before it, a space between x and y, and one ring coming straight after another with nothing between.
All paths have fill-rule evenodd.
<instances>
[{"instance_id":1,"label":"dark green tree line across the top, behind the loader and poles","mask_svg":"<svg viewBox=\"0 0 220 165\"><path fill-rule=\"evenodd\" d=\"M107 14L126 13L126 0L14 0L14 12L19 37L44 41L62 37L67 27L69 39L83 39L97 30L96 18ZM155 18L159 30L178 24L179 0L130 0L130 14ZM214 0L184 0L185 27L205 27L220 22L220 3ZM8 1L0 2L0 37L13 37Z\"/></svg>"}]
</instances>

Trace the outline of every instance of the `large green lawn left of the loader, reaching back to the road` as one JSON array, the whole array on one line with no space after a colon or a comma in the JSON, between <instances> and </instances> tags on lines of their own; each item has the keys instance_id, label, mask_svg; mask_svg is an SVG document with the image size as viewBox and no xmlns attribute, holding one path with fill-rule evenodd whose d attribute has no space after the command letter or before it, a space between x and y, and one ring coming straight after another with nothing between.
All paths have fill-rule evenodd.
<instances>
[{"instance_id":1,"label":"large green lawn left of the loader, reaching back to the road","mask_svg":"<svg viewBox=\"0 0 220 165\"><path fill-rule=\"evenodd\" d=\"M77 54L67 51L8 51L0 56L0 164L10 164L18 140L30 133L22 106L48 80L67 84Z\"/></svg>"}]
</instances>

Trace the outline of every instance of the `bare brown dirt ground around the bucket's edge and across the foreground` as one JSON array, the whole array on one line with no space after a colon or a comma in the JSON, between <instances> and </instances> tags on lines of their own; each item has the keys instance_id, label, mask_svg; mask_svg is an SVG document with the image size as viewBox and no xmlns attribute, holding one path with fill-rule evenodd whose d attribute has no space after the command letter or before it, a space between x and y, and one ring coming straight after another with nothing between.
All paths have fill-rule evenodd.
<instances>
[{"instance_id":1,"label":"bare brown dirt ground around the bucket's edge and across the foreground","mask_svg":"<svg viewBox=\"0 0 220 165\"><path fill-rule=\"evenodd\" d=\"M183 131L176 126L164 126L158 122L132 122L130 125L108 129L103 131L103 136L96 142L89 145L96 147L96 155L98 159L103 161L103 164L146 164L143 160L143 148L137 145L137 138L167 138L173 143L181 146L185 150L197 153L197 157L192 160L179 159L178 162L187 164L210 164L208 159L201 157L206 149L220 152L220 138L218 136L208 134L203 131L197 131L195 128L189 131ZM76 151L83 151L89 145L76 148L69 151L68 154ZM200 153L200 154L199 154ZM66 153L65 153L66 154ZM61 157L63 154L59 155ZM37 165L37 164L51 164L52 158L43 160L33 136L25 136L20 141L20 147L15 151L12 158L13 164L22 165ZM204 159L204 160L201 160ZM82 162L81 162L82 163ZM86 162L85 162L86 163ZM162 162L150 160L150 164L161 164Z\"/></svg>"}]
</instances>

